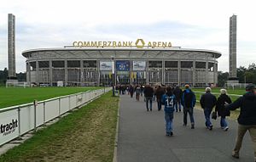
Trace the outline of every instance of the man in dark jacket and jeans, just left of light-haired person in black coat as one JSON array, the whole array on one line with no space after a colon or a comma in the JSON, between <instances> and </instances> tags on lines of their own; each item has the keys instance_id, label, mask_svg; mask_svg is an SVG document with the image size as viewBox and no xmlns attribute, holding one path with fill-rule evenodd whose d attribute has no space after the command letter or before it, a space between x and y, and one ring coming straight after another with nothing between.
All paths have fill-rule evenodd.
<instances>
[{"instance_id":1,"label":"man in dark jacket and jeans, just left of light-haired person in black coat","mask_svg":"<svg viewBox=\"0 0 256 162\"><path fill-rule=\"evenodd\" d=\"M201 108L204 109L204 114L206 118L206 126L209 130L212 130L211 113L213 107L216 105L217 98L211 93L212 89L210 87L206 88L206 93L201 96L200 103Z\"/></svg>"}]
</instances>

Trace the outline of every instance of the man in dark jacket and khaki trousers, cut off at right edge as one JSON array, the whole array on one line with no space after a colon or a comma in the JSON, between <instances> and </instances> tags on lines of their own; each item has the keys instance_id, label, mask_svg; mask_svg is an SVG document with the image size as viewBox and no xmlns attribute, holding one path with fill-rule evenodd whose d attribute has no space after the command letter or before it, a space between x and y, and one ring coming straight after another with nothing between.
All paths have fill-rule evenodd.
<instances>
[{"instance_id":1,"label":"man in dark jacket and khaki trousers, cut off at right edge","mask_svg":"<svg viewBox=\"0 0 256 162\"><path fill-rule=\"evenodd\" d=\"M250 84L246 87L246 94L241 98L236 99L234 103L227 105L230 110L240 108L238 116L238 131L236 137L236 147L232 152L234 158L239 158L242 138L247 132L250 133L254 148L254 161L256 162L256 91L255 86Z\"/></svg>"}]
</instances>

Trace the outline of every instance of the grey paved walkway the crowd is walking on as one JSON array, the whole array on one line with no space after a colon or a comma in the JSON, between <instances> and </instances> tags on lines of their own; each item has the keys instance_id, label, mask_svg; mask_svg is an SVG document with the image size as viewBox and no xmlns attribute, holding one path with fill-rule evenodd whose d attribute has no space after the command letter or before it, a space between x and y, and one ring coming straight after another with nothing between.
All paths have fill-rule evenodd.
<instances>
[{"instance_id":1,"label":"grey paved walkway the crowd is walking on","mask_svg":"<svg viewBox=\"0 0 256 162\"><path fill-rule=\"evenodd\" d=\"M237 122L229 120L229 131L219 128L214 120L213 130L204 126L202 111L195 109L195 130L183 126L183 113L174 115L174 136L166 137L163 110L147 112L145 103L128 95L120 96L118 162L230 162L253 161L253 144L247 133L240 159L231 151L236 140ZM189 116L188 116L189 117Z\"/></svg>"}]
</instances>

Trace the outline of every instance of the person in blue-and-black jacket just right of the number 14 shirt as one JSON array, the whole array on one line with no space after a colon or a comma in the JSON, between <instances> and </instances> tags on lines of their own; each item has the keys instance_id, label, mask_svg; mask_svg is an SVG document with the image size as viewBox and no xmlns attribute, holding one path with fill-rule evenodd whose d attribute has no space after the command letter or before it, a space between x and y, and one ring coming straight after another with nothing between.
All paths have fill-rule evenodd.
<instances>
[{"instance_id":1,"label":"person in blue-and-black jacket just right of the number 14 shirt","mask_svg":"<svg viewBox=\"0 0 256 162\"><path fill-rule=\"evenodd\" d=\"M189 113L191 129L195 129L195 120L193 114L195 107L195 93L189 88L189 85L185 85L181 103L183 105L183 126L187 126L187 116Z\"/></svg>"}]
</instances>

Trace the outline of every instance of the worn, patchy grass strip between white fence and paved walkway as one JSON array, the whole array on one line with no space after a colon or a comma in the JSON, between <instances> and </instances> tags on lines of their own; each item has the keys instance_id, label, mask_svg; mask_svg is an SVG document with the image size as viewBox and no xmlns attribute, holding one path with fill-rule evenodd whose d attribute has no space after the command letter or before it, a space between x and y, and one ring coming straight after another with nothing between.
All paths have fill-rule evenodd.
<instances>
[{"instance_id":1,"label":"worn, patchy grass strip between white fence and paved walkway","mask_svg":"<svg viewBox=\"0 0 256 162\"><path fill-rule=\"evenodd\" d=\"M61 118L0 161L112 161L119 98L111 92Z\"/></svg>"}]
</instances>

